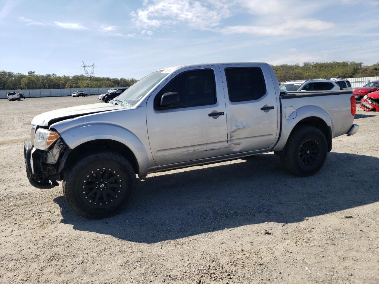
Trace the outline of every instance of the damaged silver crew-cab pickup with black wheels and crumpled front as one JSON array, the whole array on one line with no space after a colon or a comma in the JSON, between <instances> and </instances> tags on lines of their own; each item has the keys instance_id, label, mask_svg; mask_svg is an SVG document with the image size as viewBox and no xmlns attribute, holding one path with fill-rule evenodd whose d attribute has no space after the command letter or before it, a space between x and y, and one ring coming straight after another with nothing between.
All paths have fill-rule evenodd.
<instances>
[{"instance_id":1,"label":"damaged silver crew-cab pickup with black wheels and crumpled front","mask_svg":"<svg viewBox=\"0 0 379 284\"><path fill-rule=\"evenodd\" d=\"M27 177L38 188L63 181L77 214L104 218L127 206L136 174L274 151L290 173L313 175L332 138L357 132L355 112L349 91L280 93L266 63L172 67L112 103L34 117Z\"/></svg>"}]
</instances>

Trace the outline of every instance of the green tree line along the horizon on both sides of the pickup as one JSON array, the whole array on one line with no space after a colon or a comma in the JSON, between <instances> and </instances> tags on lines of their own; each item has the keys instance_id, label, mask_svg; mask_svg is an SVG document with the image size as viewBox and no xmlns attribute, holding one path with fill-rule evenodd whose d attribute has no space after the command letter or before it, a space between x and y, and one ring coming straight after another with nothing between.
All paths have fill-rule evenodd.
<instances>
[{"instance_id":1,"label":"green tree line along the horizon on both sides of the pickup","mask_svg":"<svg viewBox=\"0 0 379 284\"><path fill-rule=\"evenodd\" d=\"M372 66L362 66L362 62L304 62L300 64L281 64L272 66L280 82L299 79L342 78L379 76L379 62ZM86 87L129 87L135 78L93 77L91 82L85 75L57 76L56 74L38 75L29 71L28 75L0 71L0 90L27 89L83 89Z\"/></svg>"}]
</instances>

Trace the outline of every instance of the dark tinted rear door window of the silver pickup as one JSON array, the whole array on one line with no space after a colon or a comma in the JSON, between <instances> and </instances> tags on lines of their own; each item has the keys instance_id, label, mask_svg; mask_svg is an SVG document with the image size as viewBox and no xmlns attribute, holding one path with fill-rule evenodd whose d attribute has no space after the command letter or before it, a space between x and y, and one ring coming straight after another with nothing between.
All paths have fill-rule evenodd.
<instances>
[{"instance_id":1,"label":"dark tinted rear door window of the silver pickup","mask_svg":"<svg viewBox=\"0 0 379 284\"><path fill-rule=\"evenodd\" d=\"M229 100L258 100L266 94L266 82L259 67L225 69Z\"/></svg>"}]
</instances>

